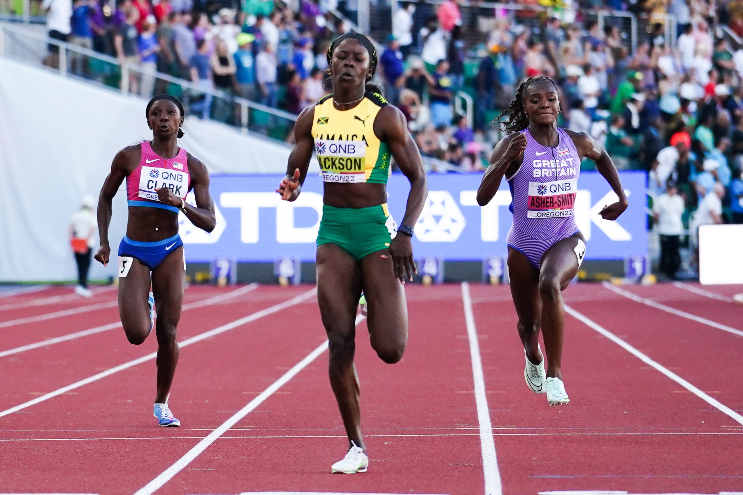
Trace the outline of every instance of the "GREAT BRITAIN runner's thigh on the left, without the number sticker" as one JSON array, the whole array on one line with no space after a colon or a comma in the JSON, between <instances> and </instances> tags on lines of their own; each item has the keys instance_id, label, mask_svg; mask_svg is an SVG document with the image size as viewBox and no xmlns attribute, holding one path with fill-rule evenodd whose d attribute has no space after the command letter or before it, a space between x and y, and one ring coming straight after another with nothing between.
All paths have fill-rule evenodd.
<instances>
[{"instance_id":1,"label":"GREAT BRITAIN runner's thigh on the left, without the number sticker","mask_svg":"<svg viewBox=\"0 0 743 495\"><path fill-rule=\"evenodd\" d=\"M508 248L508 279L513 306L519 321L525 325L539 326L542 315L542 298L539 297L539 270L526 255Z\"/></svg>"}]
</instances>

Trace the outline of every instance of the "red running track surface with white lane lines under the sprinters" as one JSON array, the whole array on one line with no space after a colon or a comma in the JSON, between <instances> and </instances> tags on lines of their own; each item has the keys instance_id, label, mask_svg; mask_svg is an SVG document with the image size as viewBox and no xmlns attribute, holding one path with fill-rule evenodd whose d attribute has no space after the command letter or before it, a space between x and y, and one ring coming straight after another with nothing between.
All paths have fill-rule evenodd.
<instances>
[{"instance_id":1,"label":"red running track surface with white lane lines under the sprinters","mask_svg":"<svg viewBox=\"0 0 743 495\"><path fill-rule=\"evenodd\" d=\"M186 290L178 428L152 416L155 335L130 345L115 290L95 292L0 297L1 494L743 492L743 286L569 286L571 402L549 407L508 286L408 285L400 363L357 324L353 476L330 473L347 439L314 286Z\"/></svg>"}]
</instances>

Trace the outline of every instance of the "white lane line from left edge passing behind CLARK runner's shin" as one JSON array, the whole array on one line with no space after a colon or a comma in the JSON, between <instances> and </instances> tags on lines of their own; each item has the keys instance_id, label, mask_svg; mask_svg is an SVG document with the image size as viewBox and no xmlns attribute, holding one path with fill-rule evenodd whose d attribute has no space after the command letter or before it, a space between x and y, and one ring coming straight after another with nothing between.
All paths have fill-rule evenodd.
<instances>
[{"instance_id":1,"label":"white lane line from left edge passing behind CLARK runner's shin","mask_svg":"<svg viewBox=\"0 0 743 495\"><path fill-rule=\"evenodd\" d=\"M289 301L284 301L283 303L274 304L273 306L270 306L266 309L261 309L260 311L254 312L251 315L247 315L247 316L244 316L243 318L239 318L233 321L232 323L228 323L226 325L222 325L221 327L217 327L214 330L209 330L208 332L200 333L191 338L186 338L186 340L179 342L178 345L181 348L183 348L191 344L195 344L196 342L203 341L206 338L213 337L214 335L219 335L220 333L227 332L227 330L233 330L233 328L240 327L241 325L250 323L251 321L256 321L257 319L263 318L264 316L272 315L273 313L281 311L282 309L288 308L289 306L299 304L302 301L305 301L305 299L311 298L316 293L317 293L317 289L308 290L307 292L304 292L296 296L296 298L291 298ZM43 396L36 397L36 399L24 402L23 404L19 404L14 407L10 407L10 409L0 411L0 418L2 416L7 416L8 414L12 414L12 413L15 413L16 411L25 409L26 407L33 406L34 404L39 404L39 402L52 399L53 397L62 395L65 392L82 387L83 385L87 385L89 383L92 383L93 381L100 380L101 378L106 378L106 376L113 375L114 373L118 373L122 370L126 370L133 366L137 366L137 364L144 363L146 361L149 361L150 359L155 359L157 355L158 355L157 352L151 353L148 355L143 355L141 358L132 359L132 361L127 361L124 364L120 364L119 366L109 368L108 370L103 371L101 373L97 373L94 376L89 376L88 378L84 378L80 381L76 381L74 384L69 384L66 387L62 387L57 390L54 390L53 392L46 393Z\"/></svg>"}]
</instances>

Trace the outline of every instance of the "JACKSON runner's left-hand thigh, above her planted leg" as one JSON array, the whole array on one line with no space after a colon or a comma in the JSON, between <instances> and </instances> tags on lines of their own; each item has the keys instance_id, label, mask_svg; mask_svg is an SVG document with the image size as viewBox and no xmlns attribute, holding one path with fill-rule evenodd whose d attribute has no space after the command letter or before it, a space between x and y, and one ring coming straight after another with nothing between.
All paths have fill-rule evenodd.
<instances>
[{"instance_id":1,"label":"JACKSON runner's left-hand thigh, above her planted leg","mask_svg":"<svg viewBox=\"0 0 743 495\"><path fill-rule=\"evenodd\" d=\"M337 244L317 246L317 303L328 335L354 333L361 295L358 263Z\"/></svg>"}]
</instances>

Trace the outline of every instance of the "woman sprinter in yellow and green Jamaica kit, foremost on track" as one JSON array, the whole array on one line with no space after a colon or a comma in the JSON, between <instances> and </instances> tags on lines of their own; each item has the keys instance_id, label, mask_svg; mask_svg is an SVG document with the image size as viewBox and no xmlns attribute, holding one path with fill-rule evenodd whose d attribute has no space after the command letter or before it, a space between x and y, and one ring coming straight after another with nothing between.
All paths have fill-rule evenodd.
<instances>
[{"instance_id":1,"label":"woman sprinter in yellow and green Jamaica kit, foremost on track","mask_svg":"<svg viewBox=\"0 0 743 495\"><path fill-rule=\"evenodd\" d=\"M328 48L327 56L333 93L296 120L287 175L276 191L282 200L296 200L314 150L325 181L317 235L317 301L330 341L331 387L350 442L348 454L331 471L350 474L364 472L369 465L354 367L359 296L363 290L371 347L386 363L400 361L408 338L401 283L405 278L412 281L415 273L412 227L424 207L427 186L421 154L402 112L389 105L378 88L366 86L377 68L369 39L346 33ZM410 181L397 235L385 186L391 155Z\"/></svg>"}]
</instances>

